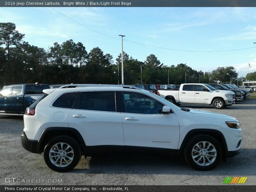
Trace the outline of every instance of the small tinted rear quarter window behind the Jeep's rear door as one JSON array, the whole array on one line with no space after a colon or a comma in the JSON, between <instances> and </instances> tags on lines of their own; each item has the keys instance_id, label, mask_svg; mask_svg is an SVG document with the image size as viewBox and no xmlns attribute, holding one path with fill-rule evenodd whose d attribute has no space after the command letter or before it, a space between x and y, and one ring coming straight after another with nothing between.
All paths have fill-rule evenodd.
<instances>
[{"instance_id":1,"label":"small tinted rear quarter window behind the Jeep's rear door","mask_svg":"<svg viewBox=\"0 0 256 192\"><path fill-rule=\"evenodd\" d=\"M77 92L73 92L61 95L57 100L54 101L52 107L71 109L74 105L77 94Z\"/></svg>"}]
</instances>

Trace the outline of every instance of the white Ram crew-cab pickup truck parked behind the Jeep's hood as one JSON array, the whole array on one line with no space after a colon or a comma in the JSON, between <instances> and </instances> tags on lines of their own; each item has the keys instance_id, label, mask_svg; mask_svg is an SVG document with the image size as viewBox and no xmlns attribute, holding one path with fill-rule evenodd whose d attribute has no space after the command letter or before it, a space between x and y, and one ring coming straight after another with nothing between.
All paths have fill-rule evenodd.
<instances>
[{"instance_id":1,"label":"white Ram crew-cab pickup truck parked behind the Jeep's hood","mask_svg":"<svg viewBox=\"0 0 256 192\"><path fill-rule=\"evenodd\" d=\"M216 90L208 84L181 84L180 90L158 90L158 95L176 105L204 104L213 105L216 109L235 104L235 93Z\"/></svg>"}]
</instances>

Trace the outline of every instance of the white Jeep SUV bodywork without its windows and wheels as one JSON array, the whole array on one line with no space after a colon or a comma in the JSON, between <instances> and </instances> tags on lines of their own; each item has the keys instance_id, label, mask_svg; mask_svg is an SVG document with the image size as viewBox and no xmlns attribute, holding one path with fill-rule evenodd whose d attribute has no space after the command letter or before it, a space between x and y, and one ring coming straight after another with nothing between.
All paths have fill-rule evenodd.
<instances>
[{"instance_id":1,"label":"white Jeep SUV bodywork without its windows and wheels","mask_svg":"<svg viewBox=\"0 0 256 192\"><path fill-rule=\"evenodd\" d=\"M170 114L138 114L117 111L97 111L76 108L53 107L53 103L63 94L71 92L128 92L145 95L170 108ZM240 152L242 128L230 128L226 122L239 123L234 117L204 110L183 110L156 94L140 89L119 87L76 87L44 90L48 94L35 108L34 115L24 115L22 145L33 153L41 153L45 140L67 134L80 134L85 156L101 153L106 149L125 148L126 153L135 151L167 151L180 154L191 134L218 135L226 157ZM117 101L116 101L117 102ZM118 103L118 102L117 102ZM151 104L150 104L151 105ZM74 105L75 106L75 105ZM117 107L116 107L117 108ZM151 108L151 107L150 107ZM164 111L164 109L163 109ZM74 131L74 132L72 132ZM49 138L48 138L49 139ZM43 145L43 146L42 146ZM150 150L149 150L150 149ZM134 152L134 151L133 151ZM49 154L49 153L48 153Z\"/></svg>"}]
</instances>

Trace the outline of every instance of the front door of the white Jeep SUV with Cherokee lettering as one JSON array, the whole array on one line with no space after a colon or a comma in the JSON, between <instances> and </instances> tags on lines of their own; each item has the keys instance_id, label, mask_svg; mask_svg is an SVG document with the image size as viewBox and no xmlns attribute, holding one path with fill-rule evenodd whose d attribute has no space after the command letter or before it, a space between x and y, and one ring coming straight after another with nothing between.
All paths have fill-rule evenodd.
<instances>
[{"instance_id":1,"label":"front door of the white Jeep SUV with Cherokee lettering","mask_svg":"<svg viewBox=\"0 0 256 192\"><path fill-rule=\"evenodd\" d=\"M126 152L178 148L179 122L174 113L159 114L164 104L137 92L119 92L119 98Z\"/></svg>"}]
</instances>

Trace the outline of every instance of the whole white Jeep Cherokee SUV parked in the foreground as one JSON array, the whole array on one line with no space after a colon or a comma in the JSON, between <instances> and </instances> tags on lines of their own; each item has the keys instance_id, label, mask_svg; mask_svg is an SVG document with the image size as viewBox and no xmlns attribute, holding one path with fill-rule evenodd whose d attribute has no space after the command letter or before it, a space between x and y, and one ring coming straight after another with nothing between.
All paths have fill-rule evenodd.
<instances>
[{"instance_id":1,"label":"whole white Jeep Cherokee SUV parked in the foreground","mask_svg":"<svg viewBox=\"0 0 256 192\"><path fill-rule=\"evenodd\" d=\"M210 170L241 151L242 137L234 117L180 108L133 86L91 85L44 90L26 110L21 142L57 172L100 154L184 154Z\"/></svg>"}]
</instances>

